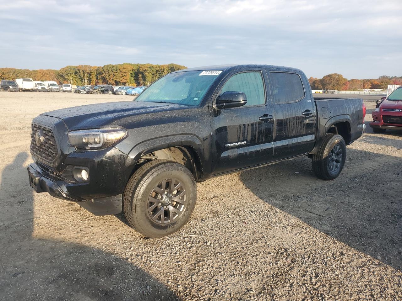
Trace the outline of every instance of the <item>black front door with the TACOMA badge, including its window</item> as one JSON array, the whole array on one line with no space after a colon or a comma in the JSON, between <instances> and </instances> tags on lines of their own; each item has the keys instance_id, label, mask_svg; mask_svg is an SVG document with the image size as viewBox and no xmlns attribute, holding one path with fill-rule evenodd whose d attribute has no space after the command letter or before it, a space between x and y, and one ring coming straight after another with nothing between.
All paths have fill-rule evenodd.
<instances>
[{"instance_id":1,"label":"black front door with the TACOMA badge, including its window","mask_svg":"<svg viewBox=\"0 0 402 301\"><path fill-rule=\"evenodd\" d=\"M273 157L273 108L267 98L264 69L229 74L219 93L243 92L247 103L238 108L210 107L212 126L212 174L263 164Z\"/></svg>"}]
</instances>

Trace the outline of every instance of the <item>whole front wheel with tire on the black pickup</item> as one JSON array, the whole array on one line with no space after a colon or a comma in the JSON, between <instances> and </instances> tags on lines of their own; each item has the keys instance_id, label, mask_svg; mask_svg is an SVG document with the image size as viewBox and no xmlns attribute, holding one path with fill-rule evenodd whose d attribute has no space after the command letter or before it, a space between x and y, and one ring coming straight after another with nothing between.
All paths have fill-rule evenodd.
<instances>
[{"instance_id":1,"label":"whole front wheel with tire on the black pickup","mask_svg":"<svg viewBox=\"0 0 402 301\"><path fill-rule=\"evenodd\" d=\"M160 238L187 223L196 199L195 179L185 166L155 160L144 164L129 179L123 193L123 212L139 233Z\"/></svg>"}]
</instances>

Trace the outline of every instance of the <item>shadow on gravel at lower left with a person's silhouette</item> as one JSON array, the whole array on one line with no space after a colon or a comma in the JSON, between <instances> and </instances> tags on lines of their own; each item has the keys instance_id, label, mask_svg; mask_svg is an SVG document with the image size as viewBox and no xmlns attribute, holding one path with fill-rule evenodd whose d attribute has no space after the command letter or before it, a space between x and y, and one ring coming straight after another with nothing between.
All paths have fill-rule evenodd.
<instances>
[{"instance_id":1,"label":"shadow on gravel at lower left with a person's silhouette","mask_svg":"<svg viewBox=\"0 0 402 301\"><path fill-rule=\"evenodd\" d=\"M27 158L19 153L1 177L0 205L9 213L0 224L1 300L180 299L133 262L96 248L33 238Z\"/></svg>"}]
</instances>

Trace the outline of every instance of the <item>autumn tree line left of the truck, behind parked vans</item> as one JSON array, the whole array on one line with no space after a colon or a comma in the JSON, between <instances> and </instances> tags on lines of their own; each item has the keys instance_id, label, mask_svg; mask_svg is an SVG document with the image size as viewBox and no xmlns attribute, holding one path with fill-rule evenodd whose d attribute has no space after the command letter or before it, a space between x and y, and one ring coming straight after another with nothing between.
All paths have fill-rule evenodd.
<instances>
[{"instance_id":1,"label":"autumn tree line left of the truck, behind parked vans","mask_svg":"<svg viewBox=\"0 0 402 301\"><path fill-rule=\"evenodd\" d=\"M57 81L72 85L149 85L167 73L185 69L177 64L153 65L123 63L104 65L102 67L90 65L66 66L55 69L15 69L0 68L0 79L15 80L28 77L34 81Z\"/></svg>"}]
</instances>

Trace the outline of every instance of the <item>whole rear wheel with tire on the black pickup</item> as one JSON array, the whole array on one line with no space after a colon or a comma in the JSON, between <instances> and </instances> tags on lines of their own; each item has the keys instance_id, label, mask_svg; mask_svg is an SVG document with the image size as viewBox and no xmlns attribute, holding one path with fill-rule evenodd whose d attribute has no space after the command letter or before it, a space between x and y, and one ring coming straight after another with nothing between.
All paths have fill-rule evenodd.
<instances>
[{"instance_id":1,"label":"whole rear wheel with tire on the black pickup","mask_svg":"<svg viewBox=\"0 0 402 301\"><path fill-rule=\"evenodd\" d=\"M312 167L316 176L333 180L343 169L346 160L346 143L337 134L326 134L317 153L313 155Z\"/></svg>"}]
</instances>

